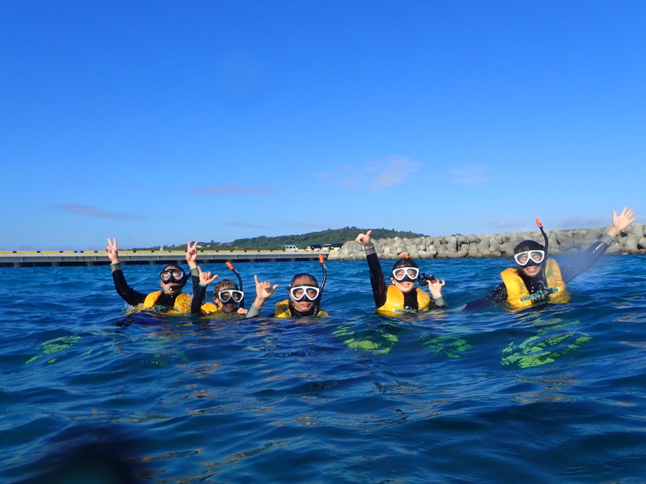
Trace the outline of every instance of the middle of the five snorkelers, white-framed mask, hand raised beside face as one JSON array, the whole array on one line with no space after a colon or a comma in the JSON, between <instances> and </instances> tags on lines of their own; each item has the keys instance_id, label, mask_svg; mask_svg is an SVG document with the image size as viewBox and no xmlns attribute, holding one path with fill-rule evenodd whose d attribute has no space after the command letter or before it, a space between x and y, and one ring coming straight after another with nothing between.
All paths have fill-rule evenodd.
<instances>
[{"instance_id":1,"label":"middle of the five snorkelers, white-framed mask, hand raised beside face","mask_svg":"<svg viewBox=\"0 0 646 484\"><path fill-rule=\"evenodd\" d=\"M320 300L323 288L328 279L328 270L325 266L325 259L318 256L318 261L323 267L323 282L318 287L317 278L311 274L296 274L291 278L289 287L289 299L276 303L271 317L273 318L306 318L307 316L328 316L328 313L320 308ZM251 305L247 318L260 316L260 310L265 301L274 294L278 284L271 285L268 281L258 281L258 276L253 276L256 281L256 299Z\"/></svg>"}]
</instances>

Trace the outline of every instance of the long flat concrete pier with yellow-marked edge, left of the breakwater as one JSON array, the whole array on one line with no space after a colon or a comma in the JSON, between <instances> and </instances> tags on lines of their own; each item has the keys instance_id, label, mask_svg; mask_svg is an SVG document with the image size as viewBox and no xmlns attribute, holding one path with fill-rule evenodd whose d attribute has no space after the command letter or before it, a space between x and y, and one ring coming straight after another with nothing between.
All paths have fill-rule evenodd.
<instances>
[{"instance_id":1,"label":"long flat concrete pier with yellow-marked edge, left of the breakwater","mask_svg":"<svg viewBox=\"0 0 646 484\"><path fill-rule=\"evenodd\" d=\"M285 252L284 250L198 250L198 264L230 262L318 261L328 252ZM186 264L183 250L120 250L121 264ZM105 250L0 251L0 267L59 267L109 265Z\"/></svg>"}]
</instances>

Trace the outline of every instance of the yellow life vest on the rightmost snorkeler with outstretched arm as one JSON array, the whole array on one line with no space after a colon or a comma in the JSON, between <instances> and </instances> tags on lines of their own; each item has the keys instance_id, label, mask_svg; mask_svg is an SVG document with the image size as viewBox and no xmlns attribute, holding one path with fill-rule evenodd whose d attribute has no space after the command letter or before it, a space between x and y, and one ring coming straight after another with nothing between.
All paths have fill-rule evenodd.
<instances>
[{"instance_id":1,"label":"yellow life vest on the rightmost snorkeler with outstretched arm","mask_svg":"<svg viewBox=\"0 0 646 484\"><path fill-rule=\"evenodd\" d=\"M507 289L507 303L513 310L519 310L530 307L534 304L535 297L530 294L525 286L525 282L520 276L520 269L509 267L500 273L503 277L503 282ZM568 294L561 276L561 269L554 259L547 259L545 263L545 277L547 279L547 286L552 291L548 295L548 302L550 303L567 303L570 301L570 294ZM538 297L543 296L542 292L534 293Z\"/></svg>"}]
</instances>

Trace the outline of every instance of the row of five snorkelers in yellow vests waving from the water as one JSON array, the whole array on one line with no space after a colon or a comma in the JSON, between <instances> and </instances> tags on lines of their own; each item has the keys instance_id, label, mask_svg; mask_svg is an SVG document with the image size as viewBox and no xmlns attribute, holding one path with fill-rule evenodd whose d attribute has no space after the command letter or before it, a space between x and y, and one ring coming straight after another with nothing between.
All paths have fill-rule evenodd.
<instances>
[{"instance_id":1,"label":"row of five snorkelers in yellow vests waving from the water","mask_svg":"<svg viewBox=\"0 0 646 484\"><path fill-rule=\"evenodd\" d=\"M548 258L548 236L537 219L544 244L525 240L516 245L514 248L516 267L506 268L501 272L503 282L485 297L467 303L464 309L477 310L489 303L504 303L518 310L540 303L567 302L569 299L567 283L592 267L616 241L615 237L635 219L632 209L624 207L620 215L612 210L612 226L607 232L585 252L579 254L579 257L562 267L554 259ZM445 281L420 272L417 263L406 254L393 264L390 273L391 284L386 285L370 233L371 230L368 230L366 234L359 234L356 241L366 252L377 312L380 314L416 313L446 307L442 296ZM231 279L218 281L213 291L213 303L205 303L207 288L215 281L218 274L202 271L196 262L197 242L193 245L189 242L186 248L186 261L191 270L190 274L186 274L178 265L169 264L159 274L161 290L143 294L130 288L125 281L119 263L116 239L108 239L106 251L117 292L126 303L143 310L190 313L195 316L233 313L241 317L253 318L260 316L267 299L273 296L278 288L278 284L260 281L257 275L254 276L256 297L251 308L244 308L242 278L233 265L227 262L229 269L236 275L238 284ZM320 287L317 278L311 274L296 274L287 287L289 297L276 303L273 312L266 316L274 318L328 316L328 313L320 308L327 271L323 257L320 256L319 260L324 272ZM193 283L193 297L182 292L189 277ZM428 293L421 287L416 287L415 283L419 283L421 287L426 286Z\"/></svg>"}]
</instances>

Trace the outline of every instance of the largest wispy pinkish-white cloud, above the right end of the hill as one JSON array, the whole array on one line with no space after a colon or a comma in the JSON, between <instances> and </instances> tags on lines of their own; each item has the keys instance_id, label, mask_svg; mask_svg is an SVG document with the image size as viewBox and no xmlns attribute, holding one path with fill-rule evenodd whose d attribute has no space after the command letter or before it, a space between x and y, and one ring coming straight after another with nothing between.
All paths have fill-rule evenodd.
<instances>
[{"instance_id":1,"label":"largest wispy pinkish-white cloud, above the right end of the hill","mask_svg":"<svg viewBox=\"0 0 646 484\"><path fill-rule=\"evenodd\" d=\"M316 172L315 176L343 187L366 187L373 192L380 192L406 181L421 166L405 156L391 156L386 161L373 161L360 166L339 164L335 166L335 171Z\"/></svg>"}]
</instances>

